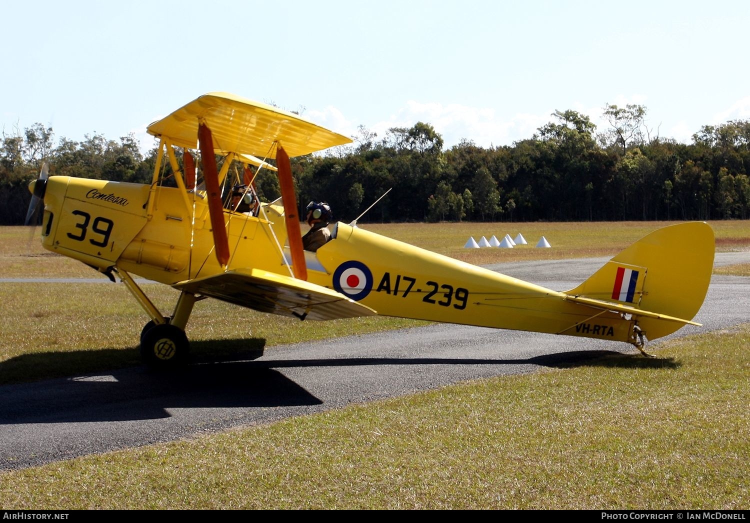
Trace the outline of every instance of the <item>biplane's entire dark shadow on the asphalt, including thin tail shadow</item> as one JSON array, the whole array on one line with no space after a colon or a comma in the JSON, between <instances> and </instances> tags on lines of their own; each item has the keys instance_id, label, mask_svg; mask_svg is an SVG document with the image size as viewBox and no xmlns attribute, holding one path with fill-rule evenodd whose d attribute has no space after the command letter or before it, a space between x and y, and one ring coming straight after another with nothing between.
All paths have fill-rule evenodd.
<instances>
[{"instance_id":1,"label":"biplane's entire dark shadow on the asphalt, including thin tail shadow","mask_svg":"<svg viewBox=\"0 0 750 523\"><path fill-rule=\"evenodd\" d=\"M223 342L223 341L222 341ZM199 342L199 344L217 343ZM253 353L257 354L257 353ZM42 357L43 355L39 355ZM46 356L49 356L47 354ZM211 362L200 363L213 356ZM553 353L529 359L326 358L221 361L198 351L196 363L175 371L145 367L93 372L78 377L2 386L0 424L113 422L165 419L172 408L286 407L323 404L277 369L367 365L541 365L553 368L601 366L677 367L673 359L646 358L610 350ZM229 356L238 356L231 351ZM101 375L98 375L101 374ZM16 399L13 399L16 398Z\"/></svg>"}]
</instances>

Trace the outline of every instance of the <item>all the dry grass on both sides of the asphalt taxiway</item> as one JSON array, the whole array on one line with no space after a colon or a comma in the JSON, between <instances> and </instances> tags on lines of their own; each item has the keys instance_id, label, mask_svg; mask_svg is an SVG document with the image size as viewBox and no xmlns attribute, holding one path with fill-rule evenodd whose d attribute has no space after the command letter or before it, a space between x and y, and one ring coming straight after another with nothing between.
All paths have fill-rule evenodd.
<instances>
[{"instance_id":1,"label":"all the dry grass on both sides of the asphalt taxiway","mask_svg":"<svg viewBox=\"0 0 750 523\"><path fill-rule=\"evenodd\" d=\"M365 225L472 263L615 254L660 224ZM713 222L718 251L750 222ZM551 249L463 250L544 235ZM747 267L727 269L746 274ZM22 227L0 227L0 278L84 277ZM103 276L99 276L104 278ZM0 283L0 380L137 362L145 315L122 285ZM149 286L169 310L175 293ZM399 321L405 323L398 323ZM395 323L392 323L395 322ZM296 322L205 300L188 335L242 353L413 325ZM577 368L458 384L316 416L0 473L4 509L746 508L750 329L653 344ZM62 369L62 370L61 370ZM69 374L69 373L68 373Z\"/></svg>"}]
</instances>

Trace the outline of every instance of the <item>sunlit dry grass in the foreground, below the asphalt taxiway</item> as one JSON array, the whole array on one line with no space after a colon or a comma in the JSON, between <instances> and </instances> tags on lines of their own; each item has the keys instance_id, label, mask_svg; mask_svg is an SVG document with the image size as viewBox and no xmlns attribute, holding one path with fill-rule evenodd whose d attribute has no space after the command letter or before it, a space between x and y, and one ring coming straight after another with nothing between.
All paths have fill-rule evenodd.
<instances>
[{"instance_id":1,"label":"sunlit dry grass in the foreground, below the asphalt taxiway","mask_svg":"<svg viewBox=\"0 0 750 523\"><path fill-rule=\"evenodd\" d=\"M746 509L750 329L0 473L4 509Z\"/></svg>"}]
</instances>

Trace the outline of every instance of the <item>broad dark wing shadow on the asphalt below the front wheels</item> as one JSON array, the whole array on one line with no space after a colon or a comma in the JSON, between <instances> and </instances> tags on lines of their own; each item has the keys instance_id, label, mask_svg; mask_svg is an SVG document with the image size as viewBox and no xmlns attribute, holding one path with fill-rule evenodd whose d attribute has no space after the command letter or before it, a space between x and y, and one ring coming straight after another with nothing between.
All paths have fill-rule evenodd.
<instances>
[{"instance_id":1,"label":"broad dark wing shadow on the asphalt below the front wheels","mask_svg":"<svg viewBox=\"0 0 750 523\"><path fill-rule=\"evenodd\" d=\"M107 371L3 386L0 424L114 422L163 419L169 409L284 407L323 401L271 368L252 362L188 365L157 373L145 368Z\"/></svg>"}]
</instances>

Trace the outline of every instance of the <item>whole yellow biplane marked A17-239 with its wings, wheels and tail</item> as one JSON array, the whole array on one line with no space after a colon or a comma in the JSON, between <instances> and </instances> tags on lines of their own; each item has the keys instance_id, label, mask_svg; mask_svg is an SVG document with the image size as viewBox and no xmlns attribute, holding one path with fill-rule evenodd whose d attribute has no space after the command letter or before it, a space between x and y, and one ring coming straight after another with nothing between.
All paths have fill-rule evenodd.
<instances>
[{"instance_id":1,"label":"whole yellow biplane marked A17-239 with its wings, wheels and tail","mask_svg":"<svg viewBox=\"0 0 750 523\"><path fill-rule=\"evenodd\" d=\"M204 297L300 320L384 314L625 341L641 350L646 338L697 325L691 320L714 252L702 222L656 230L580 286L556 292L341 222L331 225L329 242L304 251L289 158L351 140L296 114L216 92L148 133L160 140L150 185L45 171L31 182L29 216L43 200L44 247L121 278L150 318L141 334L150 365L184 361L184 329ZM248 188L260 170L278 171L281 203L226 209L231 165L242 165ZM180 291L170 317L131 274Z\"/></svg>"}]
</instances>

